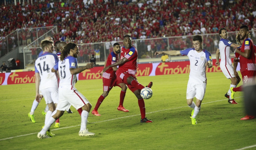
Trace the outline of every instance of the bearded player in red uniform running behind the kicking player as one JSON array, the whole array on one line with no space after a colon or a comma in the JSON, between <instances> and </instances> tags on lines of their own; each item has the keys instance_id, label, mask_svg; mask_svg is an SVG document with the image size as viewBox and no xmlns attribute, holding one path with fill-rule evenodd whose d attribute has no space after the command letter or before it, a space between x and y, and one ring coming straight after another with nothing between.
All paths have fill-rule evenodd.
<instances>
[{"instance_id":1,"label":"bearded player in red uniform running behind the kicking player","mask_svg":"<svg viewBox=\"0 0 256 150\"><path fill-rule=\"evenodd\" d=\"M115 43L113 45L113 51L109 54L108 59L105 61L104 67L116 63L119 60L118 54L120 52L121 52L120 44ZM122 90L120 92L120 102L119 102L119 106L117 107L117 110L124 111L124 112L129 111L129 110L125 109L123 106L127 86L124 83L117 80L117 78L116 78L117 69L118 68L115 66L115 67L110 68L109 70L106 70L106 72L104 72L102 74L103 94L100 95L96 106L94 107L93 111L91 111L91 114L93 114L95 116L101 116L98 112L98 108L100 107L100 104L103 102L103 100L106 98L106 96L108 96L109 91L115 86L122 88Z\"/></svg>"}]
</instances>

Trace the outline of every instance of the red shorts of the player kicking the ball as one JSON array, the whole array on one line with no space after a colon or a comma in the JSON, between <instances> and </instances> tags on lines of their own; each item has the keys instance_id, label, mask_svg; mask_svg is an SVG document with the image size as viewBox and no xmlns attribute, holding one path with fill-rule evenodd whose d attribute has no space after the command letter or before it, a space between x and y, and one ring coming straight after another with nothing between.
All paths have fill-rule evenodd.
<instances>
[{"instance_id":1,"label":"red shorts of the player kicking the ball","mask_svg":"<svg viewBox=\"0 0 256 150\"><path fill-rule=\"evenodd\" d=\"M128 73L128 71L127 71L127 72L118 71L118 70L116 71L116 78L117 78L117 80L118 80L119 82L125 83L125 84L127 85L127 87L128 87L132 92L134 92L134 91L136 91L136 90L139 90L139 89L133 87L131 84L128 84L128 83L127 83L127 78L128 78L129 76L133 77L133 78L138 82L136 76L133 75L133 74Z\"/></svg>"}]
</instances>

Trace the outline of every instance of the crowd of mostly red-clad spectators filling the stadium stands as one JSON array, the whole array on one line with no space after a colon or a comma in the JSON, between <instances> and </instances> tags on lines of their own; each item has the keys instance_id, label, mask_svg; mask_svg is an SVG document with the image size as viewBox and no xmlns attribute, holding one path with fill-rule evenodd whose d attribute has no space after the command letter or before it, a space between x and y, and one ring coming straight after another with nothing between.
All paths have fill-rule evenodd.
<instances>
[{"instance_id":1,"label":"crowd of mostly red-clad spectators filling the stadium stands","mask_svg":"<svg viewBox=\"0 0 256 150\"><path fill-rule=\"evenodd\" d=\"M119 41L126 34L148 39L217 33L222 27L238 31L243 24L256 29L255 0L37 0L33 4L25 0L24 4L17 1L16 6L2 4L0 12L0 38L17 28L58 26L55 41L78 44ZM33 41L35 32L23 30L20 44ZM204 39L209 47L214 40ZM169 42L175 50L191 46L182 39ZM157 44L146 45L156 51Z\"/></svg>"}]
</instances>

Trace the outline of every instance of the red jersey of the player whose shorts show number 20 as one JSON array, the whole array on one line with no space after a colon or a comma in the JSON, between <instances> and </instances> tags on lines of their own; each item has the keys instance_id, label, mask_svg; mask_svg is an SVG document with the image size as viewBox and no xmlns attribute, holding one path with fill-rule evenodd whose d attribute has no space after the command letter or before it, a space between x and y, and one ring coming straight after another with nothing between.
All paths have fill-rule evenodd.
<instances>
[{"instance_id":1,"label":"red jersey of the player whose shorts show number 20","mask_svg":"<svg viewBox=\"0 0 256 150\"><path fill-rule=\"evenodd\" d=\"M254 54L254 46L253 46L253 40L248 38L246 40L244 40L240 51L244 52L245 49L250 49L251 53L250 53L250 57L249 58L245 58L243 56L240 55L240 67L241 67L241 72L243 71L256 71L256 64L255 64L255 54Z\"/></svg>"}]
</instances>

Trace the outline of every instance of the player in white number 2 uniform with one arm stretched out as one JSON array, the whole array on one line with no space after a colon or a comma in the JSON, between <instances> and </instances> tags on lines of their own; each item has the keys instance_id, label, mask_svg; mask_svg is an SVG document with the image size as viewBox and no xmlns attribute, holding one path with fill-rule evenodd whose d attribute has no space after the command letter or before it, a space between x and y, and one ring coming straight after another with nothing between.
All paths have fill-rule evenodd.
<instances>
[{"instance_id":1,"label":"player in white number 2 uniform with one arm stretched out","mask_svg":"<svg viewBox=\"0 0 256 150\"><path fill-rule=\"evenodd\" d=\"M190 118L192 124L197 124L196 116L201 108L201 103L206 89L206 72L205 67L212 67L212 56L209 51L203 49L203 37L196 35L193 37L194 48L185 50L157 51L155 55L187 55L190 61L190 73L187 84L187 104L193 108ZM193 102L196 97L196 104Z\"/></svg>"}]
</instances>

